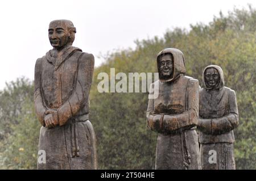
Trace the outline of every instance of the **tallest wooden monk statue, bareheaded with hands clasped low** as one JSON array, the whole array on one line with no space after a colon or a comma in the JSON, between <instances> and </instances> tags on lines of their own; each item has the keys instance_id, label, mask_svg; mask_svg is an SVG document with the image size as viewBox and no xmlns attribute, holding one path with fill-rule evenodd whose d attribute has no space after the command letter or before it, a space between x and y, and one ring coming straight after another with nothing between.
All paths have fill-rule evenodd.
<instances>
[{"instance_id":1,"label":"tallest wooden monk statue, bareheaded with hands clasped low","mask_svg":"<svg viewBox=\"0 0 256 181\"><path fill-rule=\"evenodd\" d=\"M38 169L97 169L96 137L89 121L94 57L72 47L75 33L71 21L53 20L48 30L53 49L36 60L39 150L46 153L46 163L38 162Z\"/></svg>"}]
</instances>

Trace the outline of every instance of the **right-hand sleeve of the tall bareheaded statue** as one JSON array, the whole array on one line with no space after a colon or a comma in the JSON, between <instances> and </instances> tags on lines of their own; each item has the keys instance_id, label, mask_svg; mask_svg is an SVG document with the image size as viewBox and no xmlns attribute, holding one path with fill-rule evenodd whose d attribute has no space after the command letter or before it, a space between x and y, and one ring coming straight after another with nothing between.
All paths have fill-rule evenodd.
<instances>
[{"instance_id":1,"label":"right-hand sleeve of the tall bareheaded statue","mask_svg":"<svg viewBox=\"0 0 256 181\"><path fill-rule=\"evenodd\" d=\"M57 110L59 125L64 125L88 101L90 87L92 85L93 69L93 54L83 53L79 58L75 89L69 99Z\"/></svg>"}]
</instances>

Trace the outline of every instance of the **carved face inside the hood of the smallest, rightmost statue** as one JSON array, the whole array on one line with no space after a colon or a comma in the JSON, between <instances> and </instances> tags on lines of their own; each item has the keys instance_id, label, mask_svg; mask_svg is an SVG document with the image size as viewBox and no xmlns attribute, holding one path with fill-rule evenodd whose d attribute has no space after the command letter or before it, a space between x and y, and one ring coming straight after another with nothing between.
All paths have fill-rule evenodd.
<instances>
[{"instance_id":1,"label":"carved face inside the hood of the smallest, rightmost statue","mask_svg":"<svg viewBox=\"0 0 256 181\"><path fill-rule=\"evenodd\" d=\"M205 77L205 83L207 87L209 87L210 89L216 88L220 83L220 74L214 68L209 68L205 70L204 77Z\"/></svg>"}]
</instances>

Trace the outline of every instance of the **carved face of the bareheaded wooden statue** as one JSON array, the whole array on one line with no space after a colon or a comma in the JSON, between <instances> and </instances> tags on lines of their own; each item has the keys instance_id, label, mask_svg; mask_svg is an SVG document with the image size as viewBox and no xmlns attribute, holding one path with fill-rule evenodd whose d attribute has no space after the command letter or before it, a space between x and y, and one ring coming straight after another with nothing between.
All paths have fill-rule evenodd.
<instances>
[{"instance_id":1,"label":"carved face of the bareheaded wooden statue","mask_svg":"<svg viewBox=\"0 0 256 181\"><path fill-rule=\"evenodd\" d=\"M60 49L64 45L67 45L69 36L70 33L67 23L56 20L49 24L48 37L52 47Z\"/></svg>"}]
</instances>

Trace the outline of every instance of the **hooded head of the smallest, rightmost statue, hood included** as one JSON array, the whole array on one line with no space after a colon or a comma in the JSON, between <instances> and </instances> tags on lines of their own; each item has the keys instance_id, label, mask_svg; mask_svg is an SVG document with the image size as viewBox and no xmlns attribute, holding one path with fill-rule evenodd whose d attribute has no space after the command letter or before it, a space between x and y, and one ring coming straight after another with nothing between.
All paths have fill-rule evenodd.
<instances>
[{"instance_id":1,"label":"hooded head of the smallest, rightmost statue, hood included","mask_svg":"<svg viewBox=\"0 0 256 181\"><path fill-rule=\"evenodd\" d=\"M224 86L224 74L220 66L209 65L203 71L203 87L207 90Z\"/></svg>"}]
</instances>

